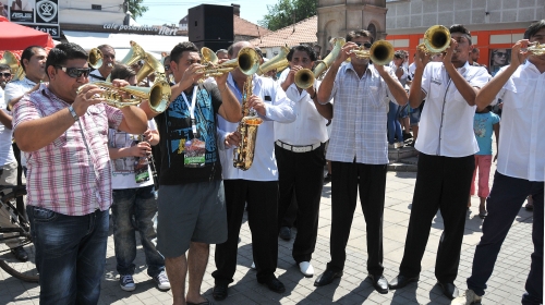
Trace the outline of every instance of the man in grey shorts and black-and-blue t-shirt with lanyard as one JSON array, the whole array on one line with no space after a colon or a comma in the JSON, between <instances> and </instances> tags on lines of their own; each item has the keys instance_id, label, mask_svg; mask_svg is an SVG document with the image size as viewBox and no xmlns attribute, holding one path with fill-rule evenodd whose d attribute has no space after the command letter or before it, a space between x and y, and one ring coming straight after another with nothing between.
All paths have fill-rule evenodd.
<instances>
[{"instance_id":1,"label":"man in grey shorts and black-and-blue t-shirt with lanyard","mask_svg":"<svg viewBox=\"0 0 545 305\"><path fill-rule=\"evenodd\" d=\"M194 44L178 44L170 52L175 85L169 108L157 114L149 105L141 105L148 119L156 117L161 137L157 248L165 256L174 305L208 303L201 283L209 244L227 240L216 114L229 122L242 118L240 103L226 85L228 74L216 76L217 85L201 84L204 66L199 63Z\"/></svg>"}]
</instances>

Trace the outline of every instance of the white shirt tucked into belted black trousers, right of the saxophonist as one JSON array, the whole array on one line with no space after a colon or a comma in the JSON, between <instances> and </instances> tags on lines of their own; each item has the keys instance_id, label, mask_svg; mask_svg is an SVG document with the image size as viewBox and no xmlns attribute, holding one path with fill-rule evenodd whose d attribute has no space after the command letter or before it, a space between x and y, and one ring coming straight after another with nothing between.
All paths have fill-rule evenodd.
<instances>
[{"instance_id":1,"label":"white shirt tucked into belted black trousers, right of the saxophonist","mask_svg":"<svg viewBox=\"0 0 545 305\"><path fill-rule=\"evenodd\" d=\"M289 69L286 69L289 70ZM282 73L277 81L281 85L288 73ZM319 87L319 81L314 86ZM299 93L298 86L291 84L286 90L286 96L294 102L296 118L292 123L275 122L275 139L291 145L313 145L324 143L327 136L327 120L319 114L314 101L306 90Z\"/></svg>"}]
</instances>

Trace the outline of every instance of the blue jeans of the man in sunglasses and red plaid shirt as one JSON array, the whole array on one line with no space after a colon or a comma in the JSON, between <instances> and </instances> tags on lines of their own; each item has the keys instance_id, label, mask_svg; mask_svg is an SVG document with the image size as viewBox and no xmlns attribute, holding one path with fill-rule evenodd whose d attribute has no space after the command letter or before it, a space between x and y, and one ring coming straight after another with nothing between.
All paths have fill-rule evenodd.
<instances>
[{"instance_id":1,"label":"blue jeans of the man in sunglasses and red plaid shirt","mask_svg":"<svg viewBox=\"0 0 545 305\"><path fill-rule=\"evenodd\" d=\"M108 211L68 216L27 206L39 272L39 303L97 304L106 264Z\"/></svg>"}]
</instances>

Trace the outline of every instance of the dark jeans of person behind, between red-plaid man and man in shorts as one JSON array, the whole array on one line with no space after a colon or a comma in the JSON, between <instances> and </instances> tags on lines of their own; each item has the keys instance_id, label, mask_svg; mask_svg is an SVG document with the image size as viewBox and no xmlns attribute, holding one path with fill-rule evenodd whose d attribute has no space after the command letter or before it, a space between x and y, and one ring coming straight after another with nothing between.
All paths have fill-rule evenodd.
<instances>
[{"instance_id":1,"label":"dark jeans of person behind, between red-plaid man and man in shorts","mask_svg":"<svg viewBox=\"0 0 545 305\"><path fill-rule=\"evenodd\" d=\"M134 273L136 258L136 230L146 255L147 274L156 277L165 270L165 258L152 242L157 237L153 218L157 213L154 186L113 190L111 216L117 269L120 274ZM132 218L135 223L133 225Z\"/></svg>"}]
</instances>

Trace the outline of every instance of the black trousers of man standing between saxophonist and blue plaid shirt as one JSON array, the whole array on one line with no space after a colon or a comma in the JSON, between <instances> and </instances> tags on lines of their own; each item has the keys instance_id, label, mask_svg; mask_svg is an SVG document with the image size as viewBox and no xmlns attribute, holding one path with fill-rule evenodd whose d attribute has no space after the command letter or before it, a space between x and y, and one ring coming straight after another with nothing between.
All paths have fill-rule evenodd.
<instances>
[{"instance_id":1,"label":"black trousers of man standing between saxophonist and blue plaid shirt","mask_svg":"<svg viewBox=\"0 0 545 305\"><path fill-rule=\"evenodd\" d=\"M298 235L293 242L292 256L295 263L311 261L318 234L319 200L324 186L324 147L307 151L293 152L275 145L278 164L278 219L279 227L292 205L293 193L296 199Z\"/></svg>"}]
</instances>

